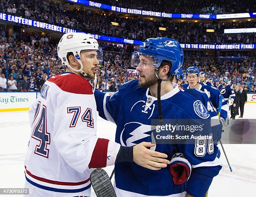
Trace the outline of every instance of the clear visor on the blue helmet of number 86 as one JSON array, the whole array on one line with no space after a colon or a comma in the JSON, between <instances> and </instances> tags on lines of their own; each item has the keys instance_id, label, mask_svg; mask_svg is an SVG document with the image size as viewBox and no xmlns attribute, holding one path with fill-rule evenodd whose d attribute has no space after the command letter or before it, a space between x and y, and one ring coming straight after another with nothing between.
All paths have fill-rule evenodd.
<instances>
[{"instance_id":1,"label":"clear visor on the blue helmet of number 86","mask_svg":"<svg viewBox=\"0 0 256 197\"><path fill-rule=\"evenodd\" d=\"M143 54L140 54L138 51L134 51L131 59L131 66L133 68L148 68L152 67L152 69L155 69L153 66L153 56L146 56Z\"/></svg>"}]
</instances>

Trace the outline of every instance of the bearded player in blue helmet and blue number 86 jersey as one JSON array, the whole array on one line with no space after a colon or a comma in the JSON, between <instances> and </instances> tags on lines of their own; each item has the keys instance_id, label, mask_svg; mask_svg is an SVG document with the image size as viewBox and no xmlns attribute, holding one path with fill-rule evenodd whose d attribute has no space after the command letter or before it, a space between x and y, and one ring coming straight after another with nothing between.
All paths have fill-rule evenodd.
<instances>
[{"instance_id":1,"label":"bearded player in blue helmet and blue number 86 jersey","mask_svg":"<svg viewBox=\"0 0 256 197\"><path fill-rule=\"evenodd\" d=\"M95 91L99 115L117 124L116 142L134 146L140 141L151 141L152 119L210 120L201 101L172 83L174 72L182 66L183 59L184 53L176 40L149 38L140 45L138 52L133 53L131 61L137 67L139 80L125 83L111 96ZM212 132L211 127L203 131L205 134ZM221 162L217 157L218 147L212 141L206 140L203 147L198 145L156 144L155 150L167 154L170 159L173 157L170 166L158 172L131 162L115 164L117 196L203 197L213 177L219 173ZM176 162L184 164L182 179L173 170L172 164Z\"/></svg>"}]
</instances>

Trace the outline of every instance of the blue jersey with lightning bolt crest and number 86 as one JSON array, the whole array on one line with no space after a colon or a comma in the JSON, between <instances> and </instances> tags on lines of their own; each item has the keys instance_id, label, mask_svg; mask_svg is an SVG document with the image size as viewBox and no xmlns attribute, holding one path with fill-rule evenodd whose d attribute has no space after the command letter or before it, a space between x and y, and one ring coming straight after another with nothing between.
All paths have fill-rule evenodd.
<instances>
[{"instance_id":1,"label":"blue jersey with lightning bolt crest and number 86","mask_svg":"<svg viewBox=\"0 0 256 197\"><path fill-rule=\"evenodd\" d=\"M161 96L163 119L205 119L210 114L197 98L180 91L177 84L174 89ZM117 125L115 141L123 146L134 146L142 141L151 141L151 119L158 119L157 98L149 94L148 88L138 86L138 80L125 83L119 91L108 94L95 91L95 100L99 115ZM198 108L200 105L200 108ZM212 133L211 126L203 130ZM183 153L190 164L192 174L187 182L174 185L169 166L158 171L146 169L133 162L115 164L115 192L118 197L165 196L184 197L186 192L195 197L203 197L213 177L220 169L217 157L218 146L209 140L203 147L198 144L156 144L151 149L162 152L172 158L174 153Z\"/></svg>"}]
</instances>

